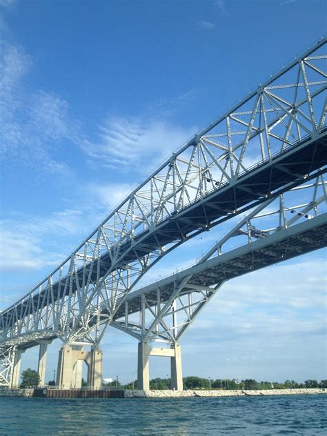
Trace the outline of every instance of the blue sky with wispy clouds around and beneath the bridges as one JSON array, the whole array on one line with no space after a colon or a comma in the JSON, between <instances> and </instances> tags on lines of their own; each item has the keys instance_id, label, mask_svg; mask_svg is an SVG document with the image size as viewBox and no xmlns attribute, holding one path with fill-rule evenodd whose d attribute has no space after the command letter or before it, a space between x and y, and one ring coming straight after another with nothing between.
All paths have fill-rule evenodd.
<instances>
[{"instance_id":1,"label":"blue sky with wispy clouds around and beneath the bridges","mask_svg":"<svg viewBox=\"0 0 327 436\"><path fill-rule=\"evenodd\" d=\"M0 0L0 14L0 310L326 29L321 0ZM226 228L155 274L191 266ZM228 282L181 339L184 375L326 379L325 267L319 250ZM109 329L102 348L103 377L130 381L137 341ZM168 373L168 359L151 359L151 377Z\"/></svg>"}]
</instances>

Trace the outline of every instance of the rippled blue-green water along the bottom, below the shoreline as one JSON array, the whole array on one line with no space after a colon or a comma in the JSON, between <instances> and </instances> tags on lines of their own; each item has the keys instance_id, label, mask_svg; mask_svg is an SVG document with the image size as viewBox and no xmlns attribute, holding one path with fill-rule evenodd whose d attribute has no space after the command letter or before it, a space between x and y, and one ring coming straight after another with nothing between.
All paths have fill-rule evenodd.
<instances>
[{"instance_id":1,"label":"rippled blue-green water along the bottom, below the shoreline","mask_svg":"<svg viewBox=\"0 0 327 436\"><path fill-rule=\"evenodd\" d=\"M181 399L0 397L0 435L326 435L327 395Z\"/></svg>"}]
</instances>

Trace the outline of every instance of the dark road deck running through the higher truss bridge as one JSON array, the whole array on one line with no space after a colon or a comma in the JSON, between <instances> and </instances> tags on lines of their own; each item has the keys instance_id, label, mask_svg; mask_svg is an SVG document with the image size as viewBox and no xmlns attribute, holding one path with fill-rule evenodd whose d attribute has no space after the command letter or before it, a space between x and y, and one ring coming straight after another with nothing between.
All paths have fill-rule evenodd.
<instances>
[{"instance_id":1,"label":"dark road deck running through the higher truss bridge","mask_svg":"<svg viewBox=\"0 0 327 436\"><path fill-rule=\"evenodd\" d=\"M184 240L190 237L192 232L204 231L218 222L224 221L235 215L235 210L241 212L255 201L264 201L272 192L276 192L286 184L301 180L314 170L323 167L327 161L327 132L326 126L321 130L321 134L315 139L306 137L298 143L289 146L283 152L279 152L272 160L265 161L241 174L234 184L226 184L212 192L208 192L201 200L186 206L179 212L172 214L164 219L155 228L155 231L146 230L139 233L134 240L128 239L120 247L121 252L128 252L131 244L139 240L139 244L134 250L129 250L128 255L123 259L123 264L127 266L134 261L137 256L142 257L160 246L166 246L173 241ZM110 269L110 255L107 252L95 263L99 262L99 276L103 277ZM86 268L87 270L87 268ZM97 266L93 267L94 273L90 283L97 280ZM77 277L81 279L83 268L78 270ZM64 281L65 278L62 279ZM61 288L61 290L60 290ZM64 297L64 286L59 286L59 282L52 286L52 301L57 301ZM77 284L72 282L72 293L77 291ZM43 301L43 294L46 290L35 292L33 297L34 305L39 307ZM0 316L6 324L12 317L12 311L17 309L17 313L24 313L26 300L23 303L17 301L10 308L3 310ZM43 306L47 302L44 301ZM19 319L19 316L16 319Z\"/></svg>"}]
</instances>

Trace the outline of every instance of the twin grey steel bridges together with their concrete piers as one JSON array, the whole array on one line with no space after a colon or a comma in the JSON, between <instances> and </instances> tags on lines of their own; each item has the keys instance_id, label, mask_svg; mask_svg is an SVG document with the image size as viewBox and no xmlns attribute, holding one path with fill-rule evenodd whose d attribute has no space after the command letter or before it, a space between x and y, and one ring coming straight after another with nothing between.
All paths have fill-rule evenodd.
<instances>
[{"instance_id":1,"label":"twin grey steel bridges together with their concrete piers","mask_svg":"<svg viewBox=\"0 0 327 436\"><path fill-rule=\"evenodd\" d=\"M113 326L139 340L139 388L148 389L148 357L161 355L171 359L172 388L182 389L179 339L225 281L326 246L326 42L173 153L0 313L0 384L18 384L21 354L32 346L44 384L47 347L59 338L57 384L80 386L86 361L89 386L101 386L99 347ZM137 289L169 252L240 214L197 265Z\"/></svg>"}]
</instances>

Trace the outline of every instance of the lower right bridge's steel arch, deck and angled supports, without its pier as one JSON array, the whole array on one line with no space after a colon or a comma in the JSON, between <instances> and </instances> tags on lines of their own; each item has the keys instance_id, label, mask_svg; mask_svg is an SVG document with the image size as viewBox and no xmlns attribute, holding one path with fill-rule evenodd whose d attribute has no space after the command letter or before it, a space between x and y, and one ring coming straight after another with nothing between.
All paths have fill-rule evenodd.
<instances>
[{"instance_id":1,"label":"lower right bridge's steel arch, deck and angled supports, without its pier","mask_svg":"<svg viewBox=\"0 0 327 436\"><path fill-rule=\"evenodd\" d=\"M111 326L140 341L179 341L226 281L326 247L326 206L319 177L253 208L197 265L130 293Z\"/></svg>"}]
</instances>

